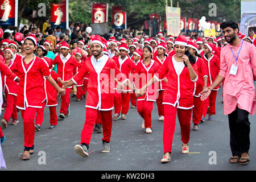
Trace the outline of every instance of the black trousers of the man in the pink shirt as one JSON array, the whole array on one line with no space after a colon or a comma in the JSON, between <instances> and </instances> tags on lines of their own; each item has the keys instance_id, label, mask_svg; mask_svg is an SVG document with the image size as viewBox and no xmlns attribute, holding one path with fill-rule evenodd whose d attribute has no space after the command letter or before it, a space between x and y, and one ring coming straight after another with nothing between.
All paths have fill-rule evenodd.
<instances>
[{"instance_id":1,"label":"black trousers of the man in the pink shirt","mask_svg":"<svg viewBox=\"0 0 256 182\"><path fill-rule=\"evenodd\" d=\"M228 115L230 130L230 148L233 156L241 156L249 152L250 122L249 112L238 107Z\"/></svg>"}]
</instances>

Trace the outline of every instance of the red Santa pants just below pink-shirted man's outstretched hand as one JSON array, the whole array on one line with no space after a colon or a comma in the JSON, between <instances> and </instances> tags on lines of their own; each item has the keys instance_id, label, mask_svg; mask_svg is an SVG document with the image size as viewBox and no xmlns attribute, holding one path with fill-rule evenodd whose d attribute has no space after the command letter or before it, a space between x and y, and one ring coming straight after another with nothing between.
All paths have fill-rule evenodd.
<instances>
[{"instance_id":1,"label":"red Santa pants just below pink-shirted man's outstretched hand","mask_svg":"<svg viewBox=\"0 0 256 182\"><path fill-rule=\"evenodd\" d=\"M217 90L212 90L209 97L203 102L203 115L204 117L207 115L207 110L209 106L209 114L216 114L216 98L217 98Z\"/></svg>"}]
</instances>

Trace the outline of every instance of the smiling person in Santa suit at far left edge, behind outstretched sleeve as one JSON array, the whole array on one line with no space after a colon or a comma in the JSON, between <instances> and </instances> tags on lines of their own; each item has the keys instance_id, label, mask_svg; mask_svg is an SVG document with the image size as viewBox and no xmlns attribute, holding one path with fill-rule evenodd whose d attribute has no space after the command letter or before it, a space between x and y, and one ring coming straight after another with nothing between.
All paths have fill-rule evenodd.
<instances>
[{"instance_id":1,"label":"smiling person in Santa suit at far left edge, behind outstretched sleeve","mask_svg":"<svg viewBox=\"0 0 256 182\"><path fill-rule=\"evenodd\" d=\"M14 51L11 48L5 48L4 49L4 57L5 60L3 60L3 63L6 64L10 70L17 75L17 65L16 61L12 60L12 57L14 56ZM7 123L9 123L9 119L12 118L13 122L11 125L17 125L18 121L18 115L17 115L17 87L18 83L13 80L13 78L2 75L2 84L3 84L3 94L6 97L6 110L5 114L3 115L3 119L1 121L3 127L7 127Z\"/></svg>"}]
</instances>

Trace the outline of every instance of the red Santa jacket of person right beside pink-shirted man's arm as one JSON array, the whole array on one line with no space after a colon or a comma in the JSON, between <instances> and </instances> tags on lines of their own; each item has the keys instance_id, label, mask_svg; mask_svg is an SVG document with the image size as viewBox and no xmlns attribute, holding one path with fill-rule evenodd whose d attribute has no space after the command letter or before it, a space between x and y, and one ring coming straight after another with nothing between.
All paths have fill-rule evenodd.
<instances>
[{"instance_id":1,"label":"red Santa jacket of person right beside pink-shirted man's arm","mask_svg":"<svg viewBox=\"0 0 256 182\"><path fill-rule=\"evenodd\" d=\"M210 86L212 82L215 80L215 78L218 76L218 73L220 72L220 59L216 55L213 55L207 59L207 57L204 55L203 60L205 65L207 66L208 71L208 80L207 80L207 86ZM213 90L218 90L218 86L214 88Z\"/></svg>"}]
</instances>

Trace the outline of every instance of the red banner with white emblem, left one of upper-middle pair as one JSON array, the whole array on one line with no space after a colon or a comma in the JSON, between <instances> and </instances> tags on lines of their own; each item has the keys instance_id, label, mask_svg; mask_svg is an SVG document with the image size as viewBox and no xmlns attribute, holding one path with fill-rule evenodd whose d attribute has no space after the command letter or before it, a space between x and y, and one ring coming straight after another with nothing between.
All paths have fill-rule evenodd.
<instances>
[{"instance_id":1,"label":"red banner with white emblem, left one of upper-middle pair","mask_svg":"<svg viewBox=\"0 0 256 182\"><path fill-rule=\"evenodd\" d=\"M108 3L92 5L92 23L108 22Z\"/></svg>"}]
</instances>

